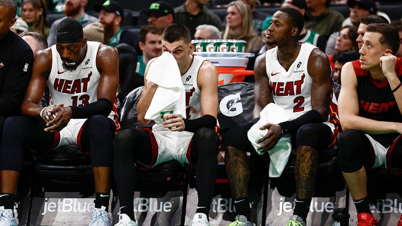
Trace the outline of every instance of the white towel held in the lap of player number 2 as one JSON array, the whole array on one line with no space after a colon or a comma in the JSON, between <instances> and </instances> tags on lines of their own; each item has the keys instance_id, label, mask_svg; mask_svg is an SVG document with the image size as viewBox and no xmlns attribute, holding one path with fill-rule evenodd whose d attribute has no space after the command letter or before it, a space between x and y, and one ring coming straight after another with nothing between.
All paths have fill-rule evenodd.
<instances>
[{"instance_id":1,"label":"white towel held in the lap of player number 2","mask_svg":"<svg viewBox=\"0 0 402 226\"><path fill-rule=\"evenodd\" d=\"M257 144L257 141L263 138L268 133L268 129L261 130L260 127L267 123L278 124L284 121L289 121L297 118L296 114L285 111L282 107L269 103L263 111L260 113L260 120L255 123L247 132L248 140L250 140L252 146L254 146L256 152L260 155L264 154L262 151L257 150L260 146L265 144L266 140ZM289 160L289 156L292 150L291 135L286 134L279 139L277 145L268 151L271 162L269 164L269 177L280 177L283 173L283 169Z\"/></svg>"}]
</instances>

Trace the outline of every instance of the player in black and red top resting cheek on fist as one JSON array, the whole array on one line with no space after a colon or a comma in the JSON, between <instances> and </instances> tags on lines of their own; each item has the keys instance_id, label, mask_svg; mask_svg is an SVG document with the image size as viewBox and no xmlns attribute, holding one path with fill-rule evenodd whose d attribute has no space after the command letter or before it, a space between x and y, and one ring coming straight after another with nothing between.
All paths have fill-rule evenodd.
<instances>
[{"instance_id":1,"label":"player in black and red top resting cheek on fist","mask_svg":"<svg viewBox=\"0 0 402 226\"><path fill-rule=\"evenodd\" d=\"M358 226L376 226L367 199L366 169L402 169L402 58L399 35L391 25L367 26L360 60L341 72L339 163L357 210ZM402 220L402 218L401 218ZM398 226L402 226L399 220Z\"/></svg>"}]
</instances>

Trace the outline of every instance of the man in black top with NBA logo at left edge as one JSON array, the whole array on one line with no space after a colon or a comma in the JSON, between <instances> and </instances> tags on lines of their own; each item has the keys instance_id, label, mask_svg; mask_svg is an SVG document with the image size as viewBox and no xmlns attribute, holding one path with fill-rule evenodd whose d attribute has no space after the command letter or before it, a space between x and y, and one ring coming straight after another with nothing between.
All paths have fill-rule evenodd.
<instances>
[{"instance_id":1,"label":"man in black top with NBA logo at left edge","mask_svg":"<svg viewBox=\"0 0 402 226\"><path fill-rule=\"evenodd\" d=\"M10 31L16 12L14 0L0 0L0 134L6 118L19 114L32 72L31 47Z\"/></svg>"}]
</instances>

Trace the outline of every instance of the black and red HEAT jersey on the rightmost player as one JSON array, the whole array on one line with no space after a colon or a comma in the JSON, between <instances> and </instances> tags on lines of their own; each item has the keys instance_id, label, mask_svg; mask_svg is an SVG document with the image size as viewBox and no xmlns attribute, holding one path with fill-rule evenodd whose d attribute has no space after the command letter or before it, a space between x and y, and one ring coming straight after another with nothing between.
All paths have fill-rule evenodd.
<instances>
[{"instance_id":1,"label":"black and red HEAT jersey on the rightmost player","mask_svg":"<svg viewBox=\"0 0 402 226\"><path fill-rule=\"evenodd\" d=\"M402 122L394 94L388 80L377 82L369 71L360 68L360 60L352 61L357 78L357 98L359 116L377 121ZM395 72L402 81L402 58L397 58ZM399 134L370 135L374 140L388 147Z\"/></svg>"}]
</instances>

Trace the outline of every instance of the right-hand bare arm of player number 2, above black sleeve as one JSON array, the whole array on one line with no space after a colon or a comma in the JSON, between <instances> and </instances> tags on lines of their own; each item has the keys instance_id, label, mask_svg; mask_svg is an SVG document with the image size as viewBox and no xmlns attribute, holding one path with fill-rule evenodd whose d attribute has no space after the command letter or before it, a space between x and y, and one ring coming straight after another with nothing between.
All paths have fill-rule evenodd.
<instances>
[{"instance_id":1,"label":"right-hand bare arm of player number 2, above black sleeve","mask_svg":"<svg viewBox=\"0 0 402 226\"><path fill-rule=\"evenodd\" d=\"M314 49L308 58L307 70L312 77L311 107L320 113L322 121L327 121L332 95L332 74L325 53Z\"/></svg>"}]
</instances>

